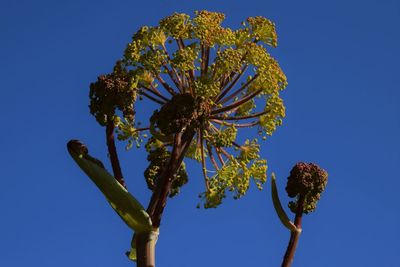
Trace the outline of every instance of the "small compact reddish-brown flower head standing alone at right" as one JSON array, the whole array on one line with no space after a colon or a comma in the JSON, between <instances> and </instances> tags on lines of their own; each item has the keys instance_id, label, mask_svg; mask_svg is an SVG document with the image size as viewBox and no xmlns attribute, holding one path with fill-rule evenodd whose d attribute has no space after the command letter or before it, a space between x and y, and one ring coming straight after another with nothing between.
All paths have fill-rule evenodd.
<instances>
[{"instance_id":1,"label":"small compact reddish-brown flower head standing alone at right","mask_svg":"<svg viewBox=\"0 0 400 267\"><path fill-rule=\"evenodd\" d=\"M321 193L325 190L328 182L328 173L313 163L297 163L288 177L286 192L289 197L296 198L296 201L289 203L293 213L298 209L301 199L303 213L310 213L317 207Z\"/></svg>"}]
</instances>

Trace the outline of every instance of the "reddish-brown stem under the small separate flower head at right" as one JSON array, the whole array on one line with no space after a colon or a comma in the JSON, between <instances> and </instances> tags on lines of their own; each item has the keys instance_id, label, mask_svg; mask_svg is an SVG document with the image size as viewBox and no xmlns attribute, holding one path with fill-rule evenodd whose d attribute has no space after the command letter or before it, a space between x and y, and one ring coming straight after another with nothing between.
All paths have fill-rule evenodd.
<instances>
[{"instance_id":1,"label":"reddish-brown stem under the small separate flower head at right","mask_svg":"<svg viewBox=\"0 0 400 267\"><path fill-rule=\"evenodd\" d=\"M293 263L294 254L296 252L297 244L301 234L301 220L303 215L304 196L300 196L297 201L296 216L294 218L294 225L298 231L292 231L290 234L289 244L286 249L285 256L283 257L282 267L290 267Z\"/></svg>"}]
</instances>

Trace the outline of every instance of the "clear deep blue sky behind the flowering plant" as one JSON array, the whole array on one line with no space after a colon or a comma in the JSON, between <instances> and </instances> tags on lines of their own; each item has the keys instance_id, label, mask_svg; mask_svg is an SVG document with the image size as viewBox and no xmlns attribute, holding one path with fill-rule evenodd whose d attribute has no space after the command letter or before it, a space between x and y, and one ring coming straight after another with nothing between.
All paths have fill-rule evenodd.
<instances>
[{"instance_id":1,"label":"clear deep blue sky behind the flowering plant","mask_svg":"<svg viewBox=\"0 0 400 267\"><path fill-rule=\"evenodd\" d=\"M131 231L69 158L78 138L106 159L88 111L89 83L111 70L131 35L174 11L220 11L235 28L262 15L289 86L287 118L262 148L283 196L297 161L329 172L304 219L293 266L400 266L400 2L2 1L0 8L0 266L133 266ZM125 176L147 203L143 151L124 152ZM270 190L195 208L201 171L169 201L158 266L279 266L289 233ZM287 202L284 197L283 201Z\"/></svg>"}]
</instances>

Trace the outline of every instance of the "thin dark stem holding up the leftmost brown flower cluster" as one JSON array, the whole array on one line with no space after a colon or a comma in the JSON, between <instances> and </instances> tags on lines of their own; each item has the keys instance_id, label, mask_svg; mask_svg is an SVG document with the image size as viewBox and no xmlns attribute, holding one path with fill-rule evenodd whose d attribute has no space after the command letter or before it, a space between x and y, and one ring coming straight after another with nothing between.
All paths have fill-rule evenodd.
<instances>
[{"instance_id":1,"label":"thin dark stem holding up the leftmost brown flower cluster","mask_svg":"<svg viewBox=\"0 0 400 267\"><path fill-rule=\"evenodd\" d=\"M106 125L106 142L108 148L108 155L110 157L111 167L113 169L115 179L126 188L124 177L122 175L121 166L119 165L119 159L117 154L117 148L115 147L114 140L114 122L109 120Z\"/></svg>"}]
</instances>

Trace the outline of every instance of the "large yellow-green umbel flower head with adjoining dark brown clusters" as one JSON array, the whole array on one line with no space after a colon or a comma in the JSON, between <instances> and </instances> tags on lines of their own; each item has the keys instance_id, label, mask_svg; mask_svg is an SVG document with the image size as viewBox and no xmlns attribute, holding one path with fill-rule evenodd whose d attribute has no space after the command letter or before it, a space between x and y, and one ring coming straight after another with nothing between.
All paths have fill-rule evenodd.
<instances>
[{"instance_id":1,"label":"large yellow-green umbel flower head with adjoining dark brown clusters","mask_svg":"<svg viewBox=\"0 0 400 267\"><path fill-rule=\"evenodd\" d=\"M150 135L145 176L152 190L169 162L174 136L188 133L184 156L202 165L205 208L218 206L228 191L240 198L251 180L261 189L267 164L258 139L239 144L237 133L254 128L265 140L285 116L280 92L286 77L268 52L277 46L274 24L250 17L232 30L221 25L224 19L208 11L193 18L174 13L140 28L113 73L90 87L90 111L101 125L114 122L129 146ZM146 127L135 120L137 99L158 106ZM170 196L187 182L183 164L175 179Z\"/></svg>"}]
</instances>

